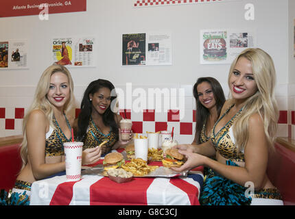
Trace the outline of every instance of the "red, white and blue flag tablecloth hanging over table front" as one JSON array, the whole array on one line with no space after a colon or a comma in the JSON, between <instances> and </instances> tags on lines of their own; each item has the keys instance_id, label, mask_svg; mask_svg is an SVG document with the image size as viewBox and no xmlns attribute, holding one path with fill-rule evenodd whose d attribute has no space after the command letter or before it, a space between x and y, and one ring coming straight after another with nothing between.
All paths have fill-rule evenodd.
<instances>
[{"instance_id":1,"label":"red, white and blue flag tablecloth hanging over table front","mask_svg":"<svg viewBox=\"0 0 295 219\"><path fill-rule=\"evenodd\" d=\"M83 175L67 182L66 176L35 181L30 205L200 205L202 167L189 177L134 177L115 183L108 177Z\"/></svg>"}]
</instances>

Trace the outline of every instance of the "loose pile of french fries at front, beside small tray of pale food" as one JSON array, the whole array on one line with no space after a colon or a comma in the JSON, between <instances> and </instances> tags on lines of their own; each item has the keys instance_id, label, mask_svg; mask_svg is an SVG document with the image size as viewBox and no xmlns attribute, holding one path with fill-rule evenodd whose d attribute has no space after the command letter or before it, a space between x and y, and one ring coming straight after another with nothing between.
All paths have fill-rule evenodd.
<instances>
[{"instance_id":1,"label":"loose pile of french fries at front, beside small tray of pale food","mask_svg":"<svg viewBox=\"0 0 295 219\"><path fill-rule=\"evenodd\" d=\"M158 166L148 166L141 158L131 159L131 162L123 164L121 166L124 170L132 172L135 177L142 177L147 175L149 172L152 172L158 168Z\"/></svg>"}]
</instances>

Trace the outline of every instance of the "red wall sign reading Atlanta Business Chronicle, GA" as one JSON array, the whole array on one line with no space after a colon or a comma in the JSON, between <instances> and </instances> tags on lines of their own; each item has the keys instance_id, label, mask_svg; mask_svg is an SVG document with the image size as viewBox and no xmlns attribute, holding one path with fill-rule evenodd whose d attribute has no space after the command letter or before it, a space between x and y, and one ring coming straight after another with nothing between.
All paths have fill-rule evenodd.
<instances>
[{"instance_id":1,"label":"red wall sign reading Atlanta Business Chronicle, GA","mask_svg":"<svg viewBox=\"0 0 295 219\"><path fill-rule=\"evenodd\" d=\"M0 18L38 15L45 8L44 6L39 8L39 6L44 3L48 6L48 14L86 11L86 0L14 0L1 2Z\"/></svg>"}]
</instances>

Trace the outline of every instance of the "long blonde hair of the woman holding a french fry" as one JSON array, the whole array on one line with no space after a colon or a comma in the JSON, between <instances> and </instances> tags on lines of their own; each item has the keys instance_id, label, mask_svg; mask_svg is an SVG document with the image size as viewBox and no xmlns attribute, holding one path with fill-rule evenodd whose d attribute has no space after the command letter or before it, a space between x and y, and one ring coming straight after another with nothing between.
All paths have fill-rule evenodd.
<instances>
[{"instance_id":1,"label":"long blonde hair of the woman holding a french fry","mask_svg":"<svg viewBox=\"0 0 295 219\"><path fill-rule=\"evenodd\" d=\"M66 67L58 65L58 64L49 66L41 75L36 88L35 95L34 95L34 101L32 105L29 107L29 109L27 110L27 114L23 118L23 142L21 143L21 159L23 160L23 168L27 164L27 138L25 135L25 128L26 128L27 120L31 112L33 110L43 111L47 120L49 120L49 124L52 127L54 127L52 123L54 110L52 108L52 104L47 99L47 93L49 91L51 75L58 72L64 73L65 75L67 75L69 79L70 98L67 101L67 103L64 104L64 113L67 113L71 109L74 103L73 79L71 77L71 73L69 73L69 70Z\"/></svg>"}]
</instances>

